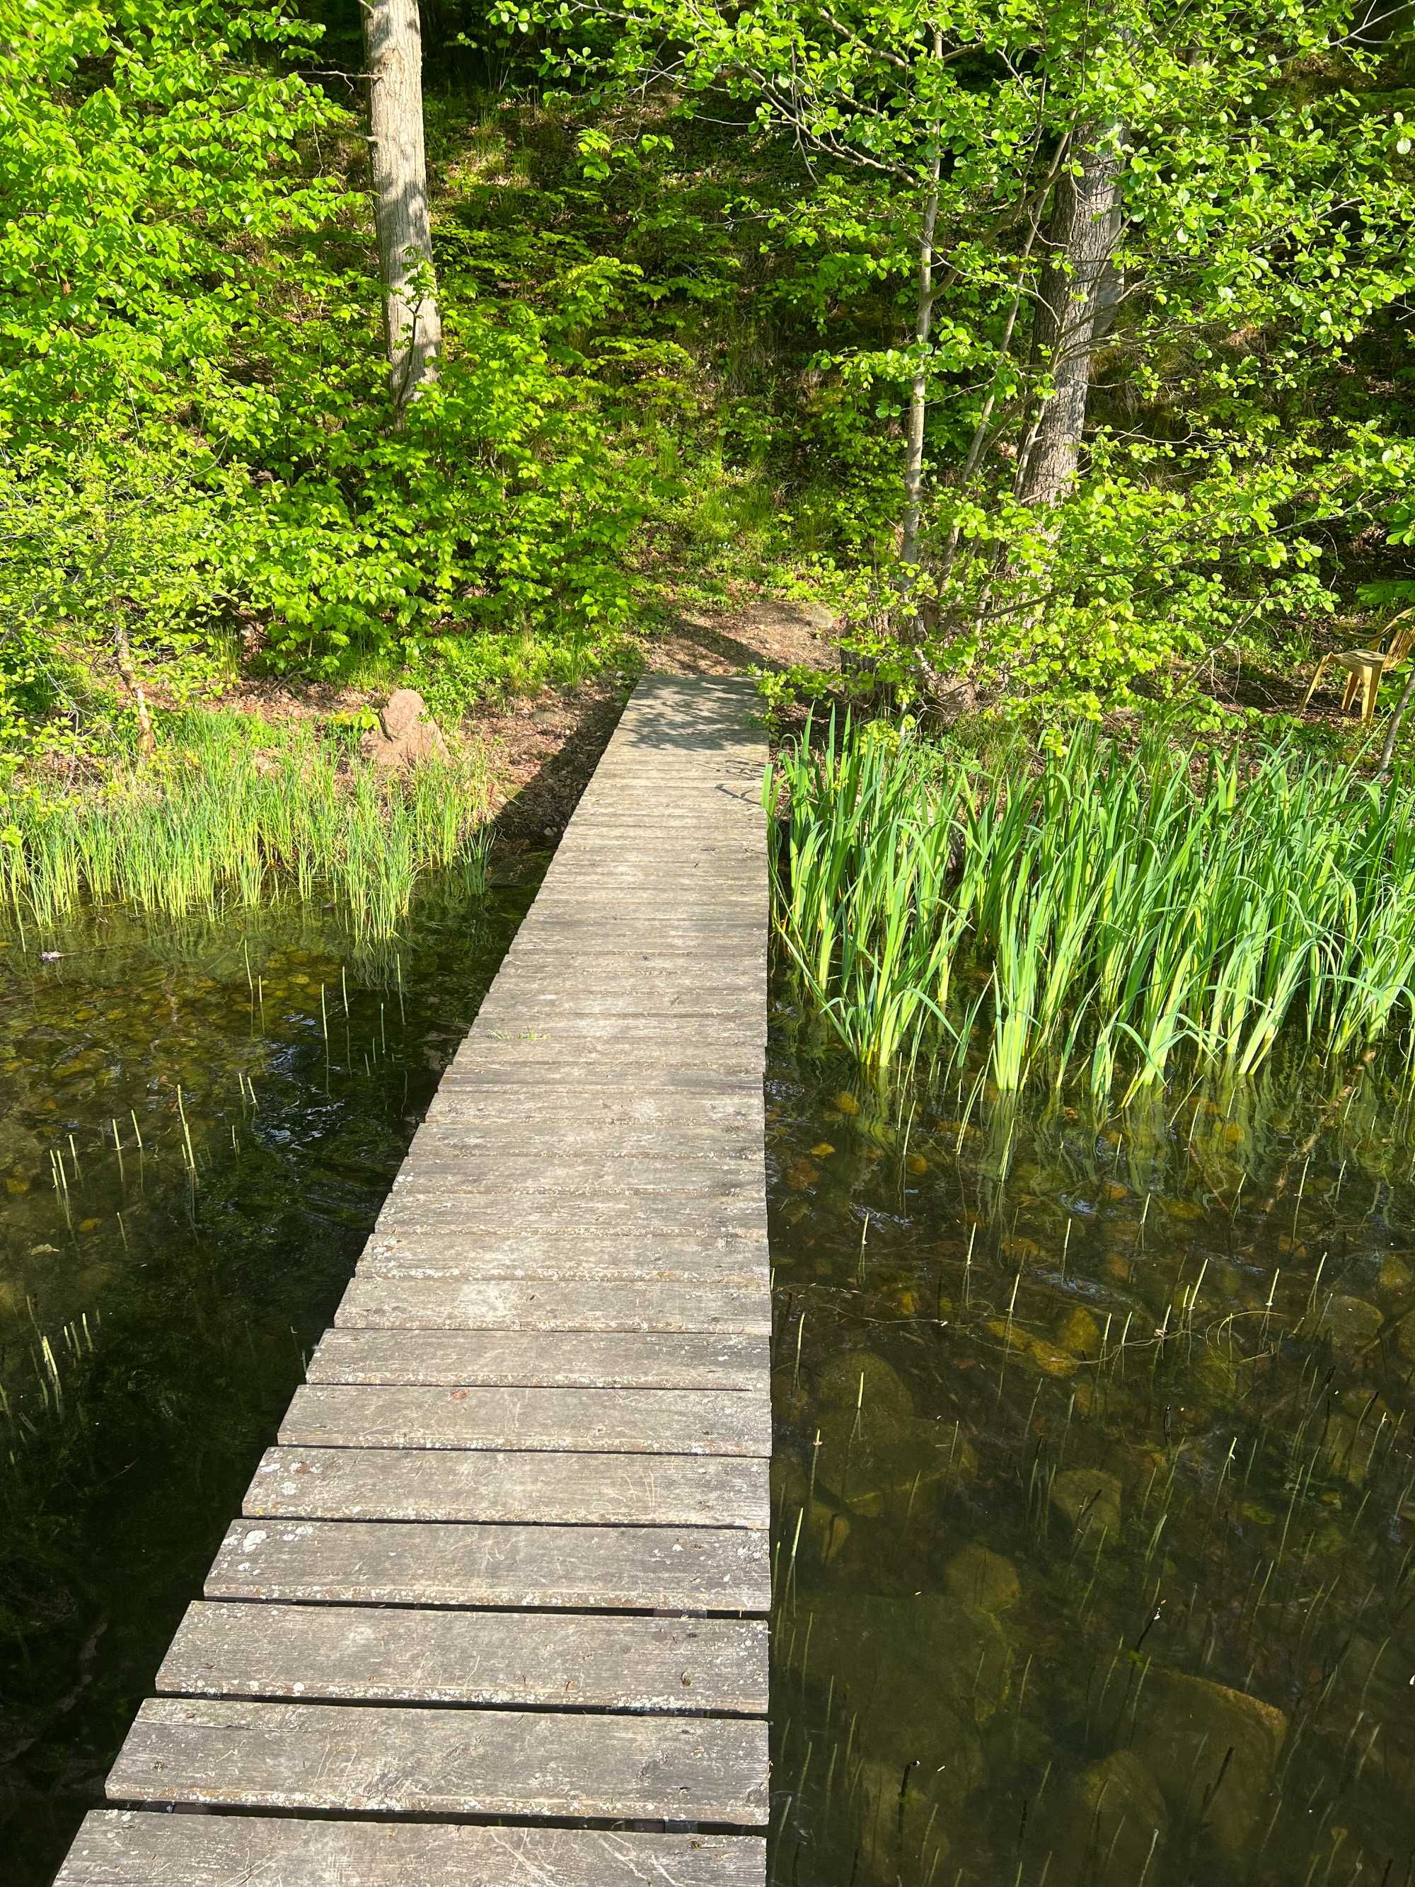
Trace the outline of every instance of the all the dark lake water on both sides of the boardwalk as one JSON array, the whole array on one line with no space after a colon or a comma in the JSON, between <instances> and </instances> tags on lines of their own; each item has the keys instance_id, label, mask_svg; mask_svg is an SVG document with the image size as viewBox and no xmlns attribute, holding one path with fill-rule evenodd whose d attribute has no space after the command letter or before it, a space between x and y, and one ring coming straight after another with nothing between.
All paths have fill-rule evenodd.
<instances>
[{"instance_id":1,"label":"all the dark lake water on both sides of the boardwalk","mask_svg":"<svg viewBox=\"0 0 1415 1887\"><path fill-rule=\"evenodd\" d=\"M381 959L298 906L0 951L6 1879L98 1798L530 894ZM1398 1091L881 1102L777 983L768 1151L777 1887L1411 1887Z\"/></svg>"}]
</instances>

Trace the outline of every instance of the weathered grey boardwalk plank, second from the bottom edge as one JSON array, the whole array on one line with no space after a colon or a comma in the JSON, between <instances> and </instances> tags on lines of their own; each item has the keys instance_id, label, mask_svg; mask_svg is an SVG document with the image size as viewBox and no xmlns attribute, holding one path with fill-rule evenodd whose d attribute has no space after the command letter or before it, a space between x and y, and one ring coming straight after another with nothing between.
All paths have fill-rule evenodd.
<instances>
[{"instance_id":1,"label":"weathered grey boardwalk plank, second from the bottom edge","mask_svg":"<svg viewBox=\"0 0 1415 1887\"><path fill-rule=\"evenodd\" d=\"M760 1827L766 1725L753 1717L160 1696L138 1712L108 1796L360 1815L624 1815Z\"/></svg>"}]
</instances>

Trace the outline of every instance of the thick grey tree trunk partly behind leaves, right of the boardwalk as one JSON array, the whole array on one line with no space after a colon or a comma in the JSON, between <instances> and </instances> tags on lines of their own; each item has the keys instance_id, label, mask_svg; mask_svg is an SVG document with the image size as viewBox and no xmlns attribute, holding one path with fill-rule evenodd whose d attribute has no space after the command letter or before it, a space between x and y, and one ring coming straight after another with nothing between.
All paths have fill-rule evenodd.
<instances>
[{"instance_id":1,"label":"thick grey tree trunk partly behind leaves, right of the boardwalk","mask_svg":"<svg viewBox=\"0 0 1415 1887\"><path fill-rule=\"evenodd\" d=\"M1109 140L1107 140L1109 142ZM1109 326L1117 294L1111 255L1121 232L1117 151L1085 149L1081 175L1064 174L1047 232L1051 266L1032 336L1032 360L1051 374L1019 470L1026 504L1055 504L1075 477L1090 391L1090 355Z\"/></svg>"}]
</instances>

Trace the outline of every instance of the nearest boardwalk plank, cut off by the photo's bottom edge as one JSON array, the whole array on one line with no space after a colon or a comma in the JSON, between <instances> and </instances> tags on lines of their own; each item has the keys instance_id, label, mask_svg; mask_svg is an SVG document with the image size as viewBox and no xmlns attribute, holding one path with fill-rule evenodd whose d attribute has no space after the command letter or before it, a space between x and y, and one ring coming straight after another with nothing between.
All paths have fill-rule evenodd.
<instances>
[{"instance_id":1,"label":"nearest boardwalk plank, cut off by the photo's bottom edge","mask_svg":"<svg viewBox=\"0 0 1415 1887\"><path fill-rule=\"evenodd\" d=\"M55 1887L760 1887L751 1834L87 1815Z\"/></svg>"}]
</instances>

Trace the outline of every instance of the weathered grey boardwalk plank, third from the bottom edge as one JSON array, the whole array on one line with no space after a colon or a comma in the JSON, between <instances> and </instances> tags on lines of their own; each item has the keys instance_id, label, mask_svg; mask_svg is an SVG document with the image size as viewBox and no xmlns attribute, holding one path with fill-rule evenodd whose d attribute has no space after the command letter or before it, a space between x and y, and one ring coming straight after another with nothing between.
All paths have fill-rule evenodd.
<instances>
[{"instance_id":1,"label":"weathered grey boardwalk plank, third from the bottom edge","mask_svg":"<svg viewBox=\"0 0 1415 1887\"><path fill-rule=\"evenodd\" d=\"M766 1661L766 1619L194 1604L157 1689L760 1717Z\"/></svg>"}]
</instances>

